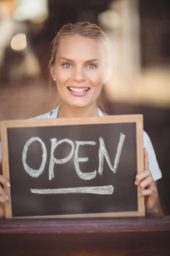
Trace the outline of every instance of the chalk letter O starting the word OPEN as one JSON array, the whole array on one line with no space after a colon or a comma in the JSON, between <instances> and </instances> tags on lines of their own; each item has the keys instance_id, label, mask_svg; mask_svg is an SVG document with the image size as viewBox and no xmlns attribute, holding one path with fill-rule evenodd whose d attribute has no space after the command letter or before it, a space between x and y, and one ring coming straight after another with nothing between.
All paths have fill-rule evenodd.
<instances>
[{"instance_id":1,"label":"chalk letter O starting the word OPEN","mask_svg":"<svg viewBox=\"0 0 170 256\"><path fill-rule=\"evenodd\" d=\"M41 147L42 147L42 163L41 163L41 166L40 166L40 169L38 170L35 170L35 169L32 169L31 167L29 167L26 163L26 159L27 159L27 151L28 151L28 147L31 145L31 143L33 143L34 141L39 141L41 143ZM34 177L34 178L37 178L39 177L42 172L44 171L45 169L45 163L46 163L46 160L47 160L47 149L45 147L45 144L44 142L39 138L39 137L32 137L31 139L29 139L24 148L23 148L23 156L22 156L22 160L23 160L23 166L24 166L24 169L26 170L26 172L31 176L31 177Z\"/></svg>"}]
</instances>

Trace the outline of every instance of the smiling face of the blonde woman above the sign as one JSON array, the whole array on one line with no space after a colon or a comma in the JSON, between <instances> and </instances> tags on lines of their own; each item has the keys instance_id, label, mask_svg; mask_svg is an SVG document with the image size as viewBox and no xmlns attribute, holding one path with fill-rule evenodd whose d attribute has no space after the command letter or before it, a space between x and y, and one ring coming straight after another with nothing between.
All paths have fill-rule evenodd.
<instances>
[{"instance_id":1,"label":"smiling face of the blonde woman above the sign","mask_svg":"<svg viewBox=\"0 0 170 256\"><path fill-rule=\"evenodd\" d=\"M67 105L96 104L104 82L102 44L73 35L62 39L51 76L56 78L59 97Z\"/></svg>"}]
</instances>

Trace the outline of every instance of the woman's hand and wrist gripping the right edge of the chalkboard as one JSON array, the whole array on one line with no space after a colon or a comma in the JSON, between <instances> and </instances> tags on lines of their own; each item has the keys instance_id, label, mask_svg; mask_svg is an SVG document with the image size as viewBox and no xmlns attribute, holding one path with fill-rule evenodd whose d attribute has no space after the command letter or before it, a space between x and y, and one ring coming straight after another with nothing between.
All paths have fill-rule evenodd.
<instances>
[{"instance_id":1,"label":"woman's hand and wrist gripping the right edge of the chalkboard","mask_svg":"<svg viewBox=\"0 0 170 256\"><path fill-rule=\"evenodd\" d=\"M148 213L157 213L156 205L158 199L158 190L156 182L153 180L149 170L149 160L147 149L144 148L144 171L136 175L135 184L139 185L139 196L145 196L145 210Z\"/></svg>"}]
</instances>

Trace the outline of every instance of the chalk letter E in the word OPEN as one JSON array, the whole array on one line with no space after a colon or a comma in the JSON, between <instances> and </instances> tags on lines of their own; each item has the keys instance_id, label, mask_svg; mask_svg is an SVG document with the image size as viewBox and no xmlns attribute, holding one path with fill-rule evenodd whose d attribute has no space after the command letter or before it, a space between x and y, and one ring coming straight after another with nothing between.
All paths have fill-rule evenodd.
<instances>
[{"instance_id":1,"label":"chalk letter E in the word OPEN","mask_svg":"<svg viewBox=\"0 0 170 256\"><path fill-rule=\"evenodd\" d=\"M94 141L75 141L76 143L76 149L74 152L74 166L77 172L77 175L82 179L82 180L91 180L96 177L96 170L94 172L81 172L79 169L79 162L87 162L88 157L78 157L79 154L79 146L80 145L96 145Z\"/></svg>"}]
</instances>

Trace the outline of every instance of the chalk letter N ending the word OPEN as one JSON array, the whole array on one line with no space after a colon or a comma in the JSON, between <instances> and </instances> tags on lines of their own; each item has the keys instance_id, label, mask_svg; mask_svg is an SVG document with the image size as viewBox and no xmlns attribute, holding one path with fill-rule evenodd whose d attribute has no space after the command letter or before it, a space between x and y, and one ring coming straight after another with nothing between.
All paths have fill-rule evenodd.
<instances>
[{"instance_id":1,"label":"chalk letter N ending the word OPEN","mask_svg":"<svg viewBox=\"0 0 170 256\"><path fill-rule=\"evenodd\" d=\"M119 165L119 160L120 160L120 155L121 155L121 152L122 152L122 147L123 147L124 140L125 140L125 135L120 133L120 139L119 139L119 144L118 144L118 148L117 148L117 152L116 152L114 166L112 166L111 160L110 160L109 155L108 155L108 151L105 147L105 142L104 142L102 137L99 138L99 144L100 145L99 145L99 169L98 169L98 173L100 175L102 175L102 172L103 172L104 156L105 156L105 159L106 159L110 169L113 171L113 173L116 173L116 169Z\"/></svg>"}]
</instances>

